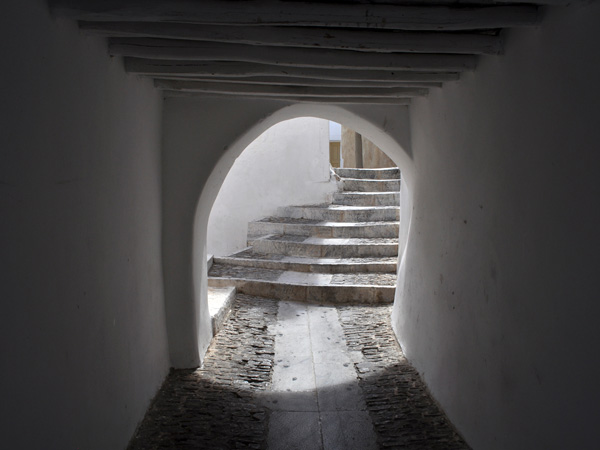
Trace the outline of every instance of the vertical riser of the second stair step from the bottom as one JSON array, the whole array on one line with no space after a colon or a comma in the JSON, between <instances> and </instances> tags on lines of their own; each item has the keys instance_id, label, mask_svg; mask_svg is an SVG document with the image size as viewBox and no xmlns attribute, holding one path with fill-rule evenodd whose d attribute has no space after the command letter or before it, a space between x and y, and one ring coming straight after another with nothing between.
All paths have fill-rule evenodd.
<instances>
[{"instance_id":1,"label":"vertical riser of the second stair step from the bottom","mask_svg":"<svg viewBox=\"0 0 600 450\"><path fill-rule=\"evenodd\" d=\"M291 261L270 261L229 257L215 258L215 262L232 266L311 273L396 273L398 267L396 263L302 264Z\"/></svg>"}]
</instances>

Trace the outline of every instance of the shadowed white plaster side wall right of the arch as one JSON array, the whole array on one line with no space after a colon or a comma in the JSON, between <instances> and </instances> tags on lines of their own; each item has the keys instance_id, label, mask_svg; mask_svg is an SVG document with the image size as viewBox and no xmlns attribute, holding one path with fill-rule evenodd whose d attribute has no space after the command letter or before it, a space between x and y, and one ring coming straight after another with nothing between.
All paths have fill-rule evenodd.
<instances>
[{"instance_id":1,"label":"shadowed white plaster side wall right of the arch","mask_svg":"<svg viewBox=\"0 0 600 450\"><path fill-rule=\"evenodd\" d=\"M599 23L548 8L411 106L393 323L475 449L598 446Z\"/></svg>"}]
</instances>

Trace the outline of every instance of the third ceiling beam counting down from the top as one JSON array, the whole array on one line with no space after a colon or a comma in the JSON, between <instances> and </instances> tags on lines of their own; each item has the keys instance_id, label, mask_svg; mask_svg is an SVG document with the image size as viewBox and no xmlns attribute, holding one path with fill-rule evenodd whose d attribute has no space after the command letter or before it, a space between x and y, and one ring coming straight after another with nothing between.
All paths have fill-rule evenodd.
<instances>
[{"instance_id":1,"label":"third ceiling beam counting down from the top","mask_svg":"<svg viewBox=\"0 0 600 450\"><path fill-rule=\"evenodd\" d=\"M111 38L113 56L187 61L241 61L294 67L371 70L473 70L477 56L421 53L366 53L351 50L262 47L222 42L154 38Z\"/></svg>"}]
</instances>

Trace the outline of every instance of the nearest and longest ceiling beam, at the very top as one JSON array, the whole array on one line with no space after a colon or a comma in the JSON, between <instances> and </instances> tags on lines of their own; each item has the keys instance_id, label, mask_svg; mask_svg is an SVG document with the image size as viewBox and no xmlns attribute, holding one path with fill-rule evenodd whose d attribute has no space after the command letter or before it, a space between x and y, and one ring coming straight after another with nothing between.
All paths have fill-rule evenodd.
<instances>
[{"instance_id":1,"label":"nearest and longest ceiling beam, at the very top","mask_svg":"<svg viewBox=\"0 0 600 450\"><path fill-rule=\"evenodd\" d=\"M61 5L61 3L63 5ZM54 9L93 21L186 22L252 26L322 26L390 30L481 30L535 25L537 8L530 5L462 7L405 6L360 3L315 3L280 0L146 0L88 2L88 11ZM91 3L91 4L90 4ZM86 8L84 6L84 8Z\"/></svg>"}]
</instances>

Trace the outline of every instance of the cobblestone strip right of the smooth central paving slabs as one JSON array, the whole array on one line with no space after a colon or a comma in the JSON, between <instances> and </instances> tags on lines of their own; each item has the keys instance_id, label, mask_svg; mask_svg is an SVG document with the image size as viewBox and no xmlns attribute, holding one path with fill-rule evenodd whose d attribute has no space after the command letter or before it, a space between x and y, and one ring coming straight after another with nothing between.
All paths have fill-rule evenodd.
<instances>
[{"instance_id":1,"label":"cobblestone strip right of the smooth central paving slabs","mask_svg":"<svg viewBox=\"0 0 600 450\"><path fill-rule=\"evenodd\" d=\"M469 449L429 396L389 324L391 306L340 307L338 314L381 449Z\"/></svg>"}]
</instances>

